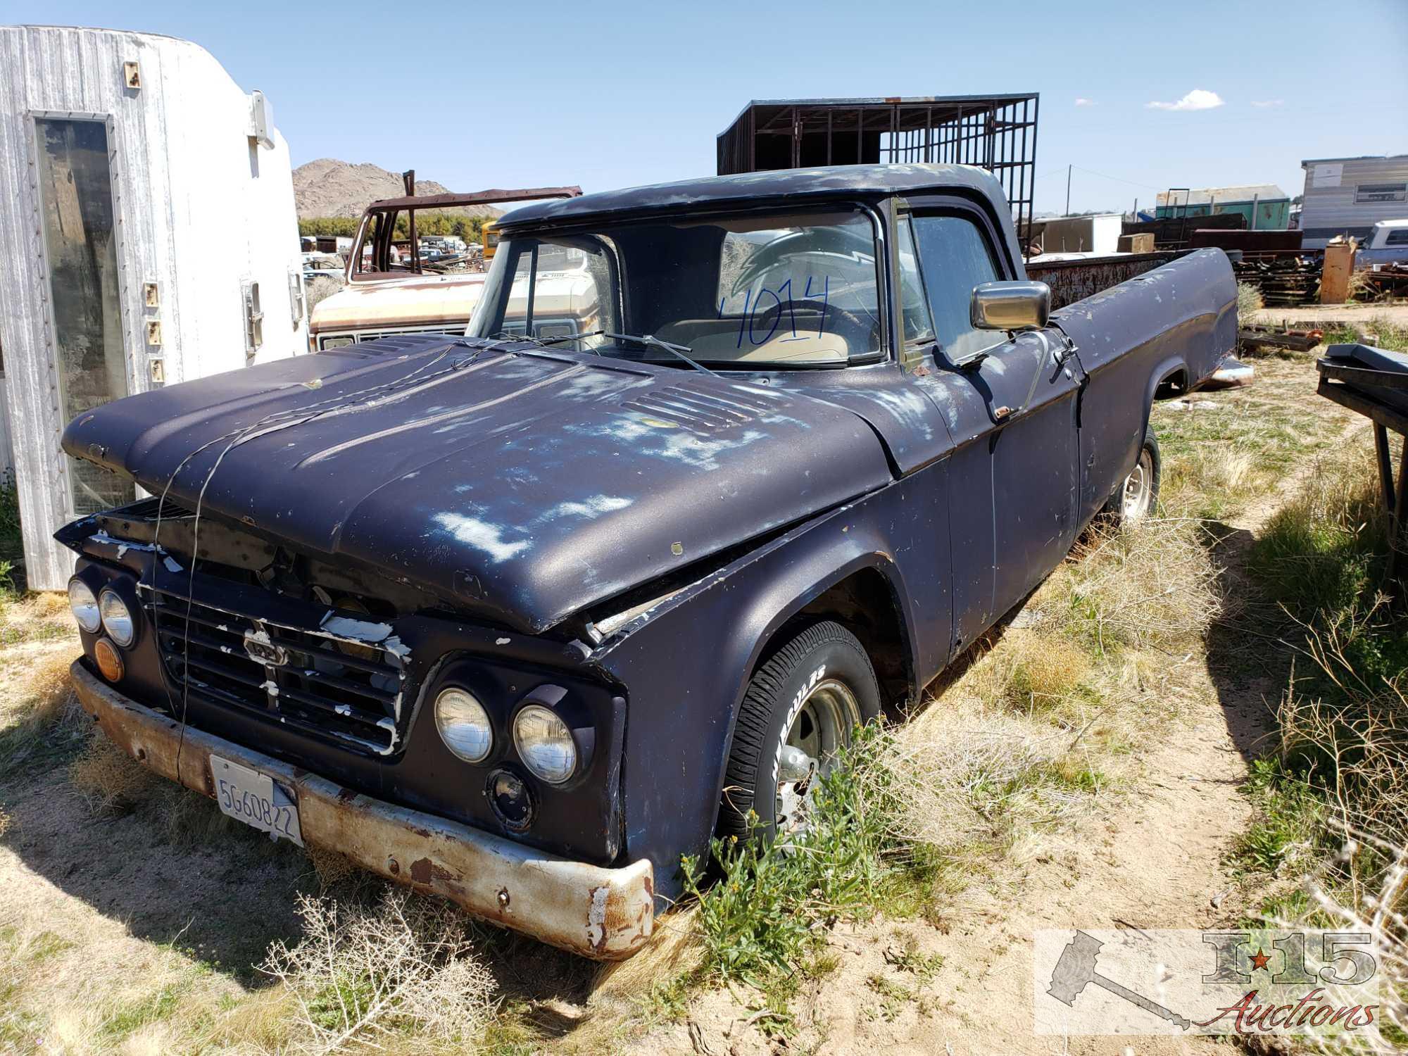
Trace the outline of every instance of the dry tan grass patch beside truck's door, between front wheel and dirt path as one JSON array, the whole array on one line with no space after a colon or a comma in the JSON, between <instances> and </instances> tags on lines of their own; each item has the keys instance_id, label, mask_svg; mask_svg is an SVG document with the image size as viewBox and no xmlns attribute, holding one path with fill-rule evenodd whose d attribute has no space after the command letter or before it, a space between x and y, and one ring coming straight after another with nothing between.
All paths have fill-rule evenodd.
<instances>
[{"instance_id":1,"label":"dry tan grass patch beside truck's door, between front wheel and dirt path","mask_svg":"<svg viewBox=\"0 0 1408 1056\"><path fill-rule=\"evenodd\" d=\"M898 804L895 836L943 863L936 897L1039 853L1045 832L1121 788L1131 752L1176 719L1222 611L1197 532L1155 520L1090 534L894 731L877 781Z\"/></svg>"}]
</instances>

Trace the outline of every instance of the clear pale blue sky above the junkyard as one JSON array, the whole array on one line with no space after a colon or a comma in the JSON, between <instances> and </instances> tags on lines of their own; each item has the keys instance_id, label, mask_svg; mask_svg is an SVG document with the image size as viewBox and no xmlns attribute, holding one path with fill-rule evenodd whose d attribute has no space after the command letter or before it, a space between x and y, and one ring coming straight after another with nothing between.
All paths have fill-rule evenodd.
<instances>
[{"instance_id":1,"label":"clear pale blue sky above the junkyard","mask_svg":"<svg viewBox=\"0 0 1408 1056\"><path fill-rule=\"evenodd\" d=\"M1067 163L1073 210L1122 210L1169 186L1298 194L1302 158L1408 153L1408 0L0 0L0 13L196 41L273 100L296 165L415 168L465 191L708 175L714 137L750 99L814 96L1039 92L1038 210L1064 207Z\"/></svg>"}]
</instances>

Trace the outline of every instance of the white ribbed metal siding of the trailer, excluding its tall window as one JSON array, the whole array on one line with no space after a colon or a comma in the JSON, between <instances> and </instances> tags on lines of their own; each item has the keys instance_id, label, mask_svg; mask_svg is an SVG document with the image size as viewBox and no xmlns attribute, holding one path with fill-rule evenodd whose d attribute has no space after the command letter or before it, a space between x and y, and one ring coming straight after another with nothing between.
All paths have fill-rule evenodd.
<instances>
[{"instance_id":1,"label":"white ribbed metal siding of the trailer, excluding its tall window","mask_svg":"<svg viewBox=\"0 0 1408 1056\"><path fill-rule=\"evenodd\" d=\"M128 89L122 63L137 62ZM265 313L259 360L307 349L289 276L300 275L289 151L246 137L249 97L204 49L149 34L70 27L0 28L0 345L8 432L32 587L61 589L72 556L49 534L69 518L65 422L49 318L35 172L35 113L108 128L121 339L128 391L246 363L241 287L256 280ZM156 283L148 308L142 284ZM146 322L162 344L149 348Z\"/></svg>"}]
</instances>

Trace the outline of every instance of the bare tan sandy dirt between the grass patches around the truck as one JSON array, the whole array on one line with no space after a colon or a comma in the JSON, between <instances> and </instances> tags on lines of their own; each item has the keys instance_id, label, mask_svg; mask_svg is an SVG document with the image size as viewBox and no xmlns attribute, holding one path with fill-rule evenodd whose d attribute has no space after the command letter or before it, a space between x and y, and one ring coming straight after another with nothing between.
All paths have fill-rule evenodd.
<instances>
[{"instance_id":1,"label":"bare tan sandy dirt between the grass patches around the truck","mask_svg":"<svg viewBox=\"0 0 1408 1056\"><path fill-rule=\"evenodd\" d=\"M1267 370L1260 396L1255 386L1245 390L1253 400L1264 400L1274 386L1314 389L1308 360L1273 360ZM1328 413L1324 403L1314 414ZM1352 435L1354 428L1345 428L1339 442L1364 442ZM1311 458L1301 456L1276 490L1219 525L1224 594L1239 593L1252 539L1309 467ZM10 624L0 628L7 697L45 670L61 672L76 650L65 605L51 600L10 608ZM1018 618L1008 634L1021 635L1022 627ZM579 1052L598 1048L589 1035L618 1050L705 1056L880 1048L946 1056L1232 1052L1207 1038L1035 1038L1031 936L1039 928L1207 928L1238 919L1264 897L1264 888L1247 890L1226 865L1232 841L1250 821L1240 787L1267 729L1267 701L1284 686L1274 663L1257 665L1250 641L1235 625L1215 627L1205 655L1167 658L1178 674L1171 681L1177 697L1167 701L1166 728L1129 760L1132 777L1083 817L1021 848L1012 867L974 883L936 919L839 929L829 941L836 967L793 1000L797 1031L788 1038L769 1029L749 994L717 987L690 997L674 1022L631 1025L650 973L663 979L669 969L660 950L593 983L570 957L510 941L496 970L517 993L535 994L541 1015L560 1024L565 1048ZM0 711L0 727L6 718ZM942 721L941 705L915 719ZM310 860L296 849L269 843L182 790L139 788L139 810L94 811L69 779L86 742L87 731L72 718L18 749L0 739L0 938L55 936L55 952L31 970L49 973L65 1000L83 998L48 1022L11 1022L7 1033L0 979L3 1050L21 1038L30 1048L14 1050L108 1048L101 1031L138 1000L128 995L149 994L156 977L169 977L182 1001L206 1008L244 1000L259 983L252 966L268 945L298 935L294 895L318 887ZM669 934L680 928L677 918L666 918L659 945L672 948ZM938 966L932 974L919 979L905 969L915 955ZM0 974L3 969L0 960ZM141 997L134 1015L145 1015L141 1002L149 1000ZM601 1029L577 1031L590 1019L601 1021ZM189 1036L163 1035L163 1022L155 1017L145 1033L120 1043L163 1052L172 1036ZM262 1046L256 1039L251 1048ZM513 1050L555 1048L535 1039Z\"/></svg>"}]
</instances>

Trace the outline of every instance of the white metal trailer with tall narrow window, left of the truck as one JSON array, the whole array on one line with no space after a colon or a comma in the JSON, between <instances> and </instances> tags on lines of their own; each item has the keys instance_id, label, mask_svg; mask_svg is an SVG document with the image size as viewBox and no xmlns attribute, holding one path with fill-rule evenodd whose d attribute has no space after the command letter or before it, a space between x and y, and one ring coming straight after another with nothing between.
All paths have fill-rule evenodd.
<instances>
[{"instance_id":1,"label":"white metal trailer with tall narrow window, left of the truck","mask_svg":"<svg viewBox=\"0 0 1408 1056\"><path fill-rule=\"evenodd\" d=\"M51 532L132 494L63 455L73 417L307 349L293 176L269 101L189 41L0 27L0 414L58 590Z\"/></svg>"}]
</instances>

